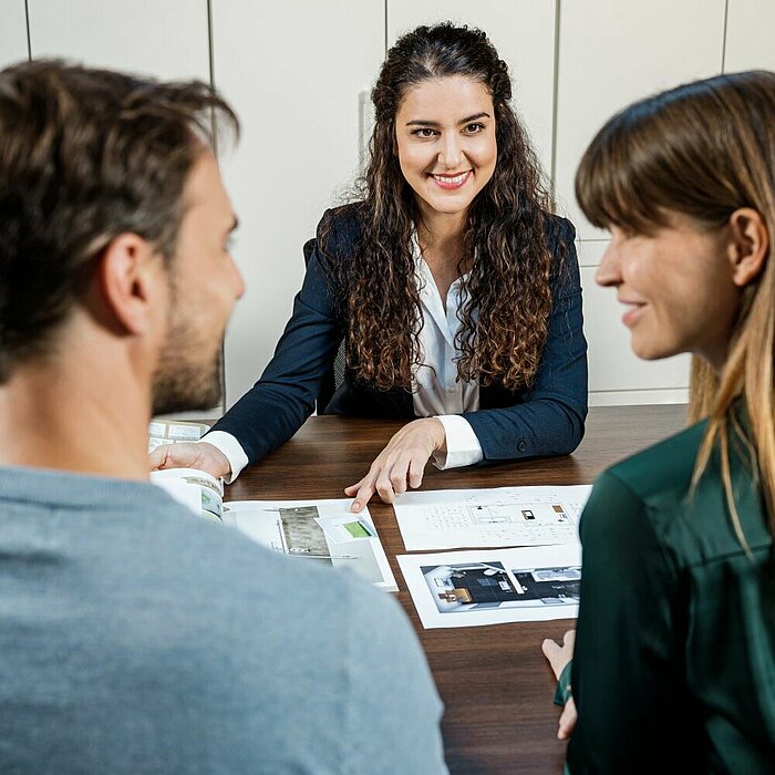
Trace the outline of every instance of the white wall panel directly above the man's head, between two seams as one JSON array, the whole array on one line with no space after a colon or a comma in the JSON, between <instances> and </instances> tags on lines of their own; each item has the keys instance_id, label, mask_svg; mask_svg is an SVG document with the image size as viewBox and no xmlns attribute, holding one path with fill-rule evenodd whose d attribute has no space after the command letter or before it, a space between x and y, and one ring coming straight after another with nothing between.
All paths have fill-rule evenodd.
<instances>
[{"instance_id":1,"label":"white wall panel directly above the man's head, between two seams","mask_svg":"<svg viewBox=\"0 0 775 775\"><path fill-rule=\"evenodd\" d=\"M28 0L33 59L209 81L206 0Z\"/></svg>"}]
</instances>

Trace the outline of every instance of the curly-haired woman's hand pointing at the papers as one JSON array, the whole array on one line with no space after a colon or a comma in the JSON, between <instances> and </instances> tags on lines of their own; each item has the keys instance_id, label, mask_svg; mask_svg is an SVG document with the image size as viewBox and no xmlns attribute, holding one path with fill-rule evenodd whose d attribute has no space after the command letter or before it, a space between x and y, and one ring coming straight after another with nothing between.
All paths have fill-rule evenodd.
<instances>
[{"instance_id":1,"label":"curly-haired woman's hand pointing at the papers","mask_svg":"<svg viewBox=\"0 0 775 775\"><path fill-rule=\"evenodd\" d=\"M423 417L404 425L371 464L369 473L344 494L354 497L351 512L360 512L374 493L392 504L395 496L407 488L420 487L423 472L434 452L446 445L444 425L436 417Z\"/></svg>"}]
</instances>

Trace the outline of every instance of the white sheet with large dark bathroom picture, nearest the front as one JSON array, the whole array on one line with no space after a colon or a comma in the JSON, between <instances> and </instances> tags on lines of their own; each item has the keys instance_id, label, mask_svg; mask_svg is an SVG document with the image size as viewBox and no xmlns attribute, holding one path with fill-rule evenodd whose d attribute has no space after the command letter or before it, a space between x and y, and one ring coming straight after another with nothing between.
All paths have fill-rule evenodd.
<instances>
[{"instance_id":1,"label":"white sheet with large dark bathroom picture, nearest the front","mask_svg":"<svg viewBox=\"0 0 775 775\"><path fill-rule=\"evenodd\" d=\"M580 544L396 558L426 630L575 619Z\"/></svg>"}]
</instances>

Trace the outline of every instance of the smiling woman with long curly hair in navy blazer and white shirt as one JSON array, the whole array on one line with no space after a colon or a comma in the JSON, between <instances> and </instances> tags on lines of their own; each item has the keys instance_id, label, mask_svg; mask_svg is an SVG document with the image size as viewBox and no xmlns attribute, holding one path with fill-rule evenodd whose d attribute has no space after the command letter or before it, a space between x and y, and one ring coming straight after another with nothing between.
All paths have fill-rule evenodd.
<instances>
[{"instance_id":1,"label":"smiling woman with long curly hair in navy blazer and white shirt","mask_svg":"<svg viewBox=\"0 0 775 775\"><path fill-rule=\"evenodd\" d=\"M261 379L159 467L236 476L321 412L412 420L345 493L360 510L425 464L572 452L587 413L574 227L549 214L506 63L480 30L420 27L388 52L358 200L324 214ZM333 394L321 384L343 344ZM322 404L322 405L321 405Z\"/></svg>"}]
</instances>

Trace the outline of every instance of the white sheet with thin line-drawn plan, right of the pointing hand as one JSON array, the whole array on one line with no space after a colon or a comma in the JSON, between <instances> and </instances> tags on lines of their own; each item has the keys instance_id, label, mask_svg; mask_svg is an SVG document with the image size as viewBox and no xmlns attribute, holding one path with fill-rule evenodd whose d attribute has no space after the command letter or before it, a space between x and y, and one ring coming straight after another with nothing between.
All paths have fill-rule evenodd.
<instances>
[{"instance_id":1,"label":"white sheet with thin line-drawn plan, right of the pointing hand","mask_svg":"<svg viewBox=\"0 0 775 775\"><path fill-rule=\"evenodd\" d=\"M407 551L574 544L591 485L405 493L393 508Z\"/></svg>"}]
</instances>

